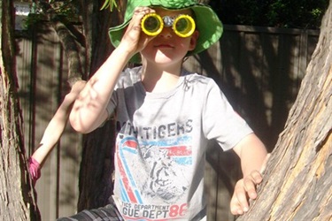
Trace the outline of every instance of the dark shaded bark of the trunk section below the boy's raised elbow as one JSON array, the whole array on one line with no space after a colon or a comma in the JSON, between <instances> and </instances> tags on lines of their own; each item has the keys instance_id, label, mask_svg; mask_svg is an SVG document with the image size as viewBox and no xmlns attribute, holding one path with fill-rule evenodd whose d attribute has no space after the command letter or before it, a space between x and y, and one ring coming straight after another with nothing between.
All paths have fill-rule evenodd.
<instances>
[{"instance_id":1,"label":"dark shaded bark of the trunk section below the boy's raised elbow","mask_svg":"<svg viewBox=\"0 0 332 221\"><path fill-rule=\"evenodd\" d=\"M102 207L112 195L114 137L112 120L84 136L77 206L79 211Z\"/></svg>"}]
</instances>

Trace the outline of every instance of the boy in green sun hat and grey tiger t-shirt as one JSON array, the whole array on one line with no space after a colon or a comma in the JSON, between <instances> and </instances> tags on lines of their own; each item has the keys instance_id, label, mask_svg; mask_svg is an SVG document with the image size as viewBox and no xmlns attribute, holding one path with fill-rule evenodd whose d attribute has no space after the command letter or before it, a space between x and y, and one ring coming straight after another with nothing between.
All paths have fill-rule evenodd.
<instances>
[{"instance_id":1,"label":"boy in green sun hat and grey tiger t-shirt","mask_svg":"<svg viewBox=\"0 0 332 221\"><path fill-rule=\"evenodd\" d=\"M149 17L162 19L148 22ZM189 36L178 34L178 18L195 20ZM192 19L185 26L190 30ZM155 30L149 24L156 23L164 27L150 35ZM81 133L111 116L117 120L115 205L84 210L70 220L205 220L205 149L211 139L241 158L243 179L236 183L231 210L235 215L248 210L247 195L257 197L266 149L212 79L181 68L184 57L208 49L221 34L217 15L194 0L127 2L124 23L110 29L116 49L70 114ZM122 72L138 52L142 66Z\"/></svg>"}]
</instances>

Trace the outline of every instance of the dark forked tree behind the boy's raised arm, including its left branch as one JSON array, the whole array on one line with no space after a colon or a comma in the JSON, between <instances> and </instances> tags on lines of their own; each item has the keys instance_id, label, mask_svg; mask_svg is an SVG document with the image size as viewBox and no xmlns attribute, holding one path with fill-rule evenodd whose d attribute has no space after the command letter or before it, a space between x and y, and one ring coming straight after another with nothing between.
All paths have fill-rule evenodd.
<instances>
[{"instance_id":1,"label":"dark forked tree behind the boy's raised arm, including its left branch","mask_svg":"<svg viewBox=\"0 0 332 221\"><path fill-rule=\"evenodd\" d=\"M104 0L81 0L83 34L77 31L66 18L48 14L52 27L58 34L68 59L67 80L73 85L76 80L87 80L90 74L104 63L112 51L108 28L119 23L119 13L100 11ZM119 2L123 9L124 1ZM43 3L51 8L48 3ZM45 10L46 11L46 10ZM78 211L104 206L112 194L113 171L113 122L105 124L93 133L84 135L79 177Z\"/></svg>"}]
</instances>

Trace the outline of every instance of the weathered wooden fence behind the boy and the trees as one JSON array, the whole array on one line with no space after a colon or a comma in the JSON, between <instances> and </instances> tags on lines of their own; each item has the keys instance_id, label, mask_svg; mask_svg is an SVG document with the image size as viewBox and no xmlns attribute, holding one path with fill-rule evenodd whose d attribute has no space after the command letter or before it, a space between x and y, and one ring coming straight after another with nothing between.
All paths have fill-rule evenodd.
<instances>
[{"instance_id":1,"label":"weathered wooden fence behind the boy and the trees","mask_svg":"<svg viewBox=\"0 0 332 221\"><path fill-rule=\"evenodd\" d=\"M225 26L219 43L185 63L212 77L272 150L310 61L319 31ZM64 95L67 61L51 29L34 41L17 38L19 95L27 155L31 155ZM73 215L78 200L81 135L67 126L36 184L42 220ZM212 143L206 155L208 220L234 220L230 193L240 176L238 159Z\"/></svg>"}]
</instances>

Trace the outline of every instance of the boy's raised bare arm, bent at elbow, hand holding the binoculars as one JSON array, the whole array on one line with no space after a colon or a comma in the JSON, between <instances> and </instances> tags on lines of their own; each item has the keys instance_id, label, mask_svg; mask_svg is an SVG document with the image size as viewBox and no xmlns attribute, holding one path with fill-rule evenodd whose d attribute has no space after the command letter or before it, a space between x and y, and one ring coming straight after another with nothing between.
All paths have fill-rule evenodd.
<instances>
[{"instance_id":1,"label":"boy's raised bare arm, bent at elbow, hand holding the binoculars","mask_svg":"<svg viewBox=\"0 0 332 221\"><path fill-rule=\"evenodd\" d=\"M73 128L80 133L89 133L100 126L108 113L106 106L120 73L131 57L143 50L152 37L141 32L143 16L154 10L138 7L127 26L120 45L112 51L103 65L91 77L79 97L73 104L69 120Z\"/></svg>"}]
</instances>

